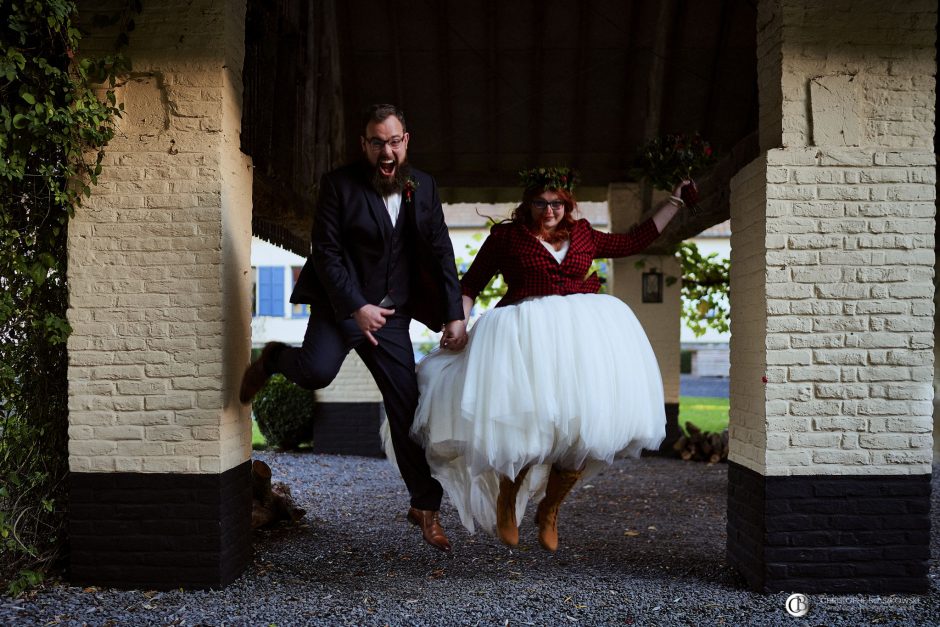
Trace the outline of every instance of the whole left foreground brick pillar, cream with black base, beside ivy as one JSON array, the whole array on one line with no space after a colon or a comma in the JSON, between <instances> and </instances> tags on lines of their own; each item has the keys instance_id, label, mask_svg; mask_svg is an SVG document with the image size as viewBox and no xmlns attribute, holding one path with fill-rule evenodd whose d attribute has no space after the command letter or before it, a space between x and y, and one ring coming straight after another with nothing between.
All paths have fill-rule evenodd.
<instances>
[{"instance_id":1,"label":"whole left foreground brick pillar, cream with black base, beside ivy","mask_svg":"<svg viewBox=\"0 0 940 627\"><path fill-rule=\"evenodd\" d=\"M69 226L76 582L220 586L250 557L244 16L243 0L143 4L125 114Z\"/></svg>"}]
</instances>

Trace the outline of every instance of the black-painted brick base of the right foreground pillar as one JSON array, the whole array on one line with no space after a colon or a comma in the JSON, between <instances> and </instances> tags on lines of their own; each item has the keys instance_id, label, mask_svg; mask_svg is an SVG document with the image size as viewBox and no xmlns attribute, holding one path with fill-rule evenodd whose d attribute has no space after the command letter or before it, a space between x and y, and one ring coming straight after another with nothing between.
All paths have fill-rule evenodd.
<instances>
[{"instance_id":1,"label":"black-painted brick base of the right foreground pillar","mask_svg":"<svg viewBox=\"0 0 940 627\"><path fill-rule=\"evenodd\" d=\"M763 592L927 592L930 475L765 477L729 462L728 559Z\"/></svg>"}]
</instances>

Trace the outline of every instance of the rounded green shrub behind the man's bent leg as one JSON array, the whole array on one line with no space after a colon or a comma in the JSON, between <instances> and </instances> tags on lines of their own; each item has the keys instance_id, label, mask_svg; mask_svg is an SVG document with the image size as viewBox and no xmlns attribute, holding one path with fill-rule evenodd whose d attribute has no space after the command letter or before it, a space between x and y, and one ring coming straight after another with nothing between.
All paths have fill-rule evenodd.
<instances>
[{"instance_id":1,"label":"rounded green shrub behind the man's bent leg","mask_svg":"<svg viewBox=\"0 0 940 627\"><path fill-rule=\"evenodd\" d=\"M255 396L258 429L268 444L292 450L313 437L317 397L283 375L272 376Z\"/></svg>"}]
</instances>

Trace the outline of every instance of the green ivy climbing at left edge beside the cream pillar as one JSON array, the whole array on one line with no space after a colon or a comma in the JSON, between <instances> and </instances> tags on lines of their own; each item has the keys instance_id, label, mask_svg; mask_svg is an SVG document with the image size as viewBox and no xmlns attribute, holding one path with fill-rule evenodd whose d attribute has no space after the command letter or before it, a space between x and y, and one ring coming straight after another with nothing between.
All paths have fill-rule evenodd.
<instances>
[{"instance_id":1,"label":"green ivy climbing at left edge beside the cream pillar","mask_svg":"<svg viewBox=\"0 0 940 627\"><path fill-rule=\"evenodd\" d=\"M68 220L101 173L127 69L119 56L81 58L75 18L75 2L0 0L0 581L11 594L64 553Z\"/></svg>"}]
</instances>

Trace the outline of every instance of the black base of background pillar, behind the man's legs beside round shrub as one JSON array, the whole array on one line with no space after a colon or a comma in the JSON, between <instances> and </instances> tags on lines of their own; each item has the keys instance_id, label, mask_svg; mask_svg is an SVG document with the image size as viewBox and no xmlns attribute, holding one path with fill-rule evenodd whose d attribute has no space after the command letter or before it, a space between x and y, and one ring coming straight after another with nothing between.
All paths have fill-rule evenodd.
<instances>
[{"instance_id":1,"label":"black base of background pillar, behind the man's legs beside round shrub","mask_svg":"<svg viewBox=\"0 0 940 627\"><path fill-rule=\"evenodd\" d=\"M317 403L313 452L384 457L379 436L384 415L382 403Z\"/></svg>"}]
</instances>

